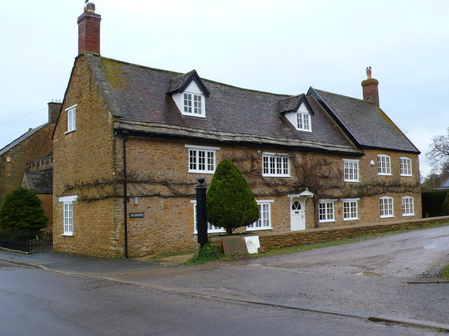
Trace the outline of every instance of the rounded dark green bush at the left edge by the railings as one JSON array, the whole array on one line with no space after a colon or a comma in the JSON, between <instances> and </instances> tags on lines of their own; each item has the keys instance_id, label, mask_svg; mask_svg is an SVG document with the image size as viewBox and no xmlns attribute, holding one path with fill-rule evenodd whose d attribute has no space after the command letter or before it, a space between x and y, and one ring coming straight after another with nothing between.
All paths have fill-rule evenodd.
<instances>
[{"instance_id":1,"label":"rounded dark green bush at the left edge by the railings","mask_svg":"<svg viewBox=\"0 0 449 336\"><path fill-rule=\"evenodd\" d=\"M13 190L0 207L0 230L35 233L45 228L47 220L34 190Z\"/></svg>"}]
</instances>

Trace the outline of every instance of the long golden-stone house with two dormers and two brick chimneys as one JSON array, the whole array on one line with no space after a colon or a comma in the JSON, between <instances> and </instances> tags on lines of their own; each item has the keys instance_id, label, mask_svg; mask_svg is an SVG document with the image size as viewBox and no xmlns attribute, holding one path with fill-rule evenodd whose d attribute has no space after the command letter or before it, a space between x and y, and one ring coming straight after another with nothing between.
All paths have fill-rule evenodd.
<instances>
[{"instance_id":1,"label":"long golden-stone house with two dormers and two brick chimneys","mask_svg":"<svg viewBox=\"0 0 449 336\"><path fill-rule=\"evenodd\" d=\"M370 69L363 99L248 90L102 57L100 20L87 3L53 133L55 251L194 248L196 180L223 159L259 204L247 231L422 216L420 152L380 109Z\"/></svg>"}]
</instances>

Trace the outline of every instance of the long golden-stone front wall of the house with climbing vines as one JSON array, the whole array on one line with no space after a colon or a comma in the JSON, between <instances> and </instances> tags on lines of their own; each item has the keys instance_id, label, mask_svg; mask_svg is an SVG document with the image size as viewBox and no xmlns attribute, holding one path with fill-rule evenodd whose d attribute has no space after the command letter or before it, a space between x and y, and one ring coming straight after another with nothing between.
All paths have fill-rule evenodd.
<instances>
[{"instance_id":1,"label":"long golden-stone front wall of the house with climbing vines","mask_svg":"<svg viewBox=\"0 0 449 336\"><path fill-rule=\"evenodd\" d=\"M325 198L335 200L335 221L330 223L316 225L314 200L309 198L305 203L307 229L318 226L330 228L382 223L392 219L406 218L402 216L401 203L401 197L406 195L413 196L415 201L415 216L407 218L421 217L421 200L419 184L417 184L419 174L412 177L399 176L398 158L404 156L401 153L386 153L391 156L392 176L378 176L377 151L369 151L361 157L280 151L279 153L291 155L291 177L267 178L261 177L260 174L262 152L264 152L262 147L128 137L126 144L128 195L130 196L128 246L131 256L184 251L196 246L194 204L192 203L195 200L194 187L198 176L205 176L206 186L208 186L213 175L188 172L189 158L186 145L220 147L220 150L216 151L217 162L229 159L236 163L250 183L256 200L270 201L272 228L265 230L268 232L290 230L290 197L288 195L297 193L302 186L300 174L304 172L311 174L311 169L316 169L310 163L316 158L326 161L322 168L323 174L337 176L343 174L343 159L358 159L361 183L343 182L344 188L330 188L326 191L328 195ZM119 148L119 144L116 148ZM269 151L274 152L273 149ZM116 162L119 162L121 155L122 153L118 151ZM417 155L408 156L412 158L413 172L419 172ZM375 161L375 165L371 165L371 160ZM308 161L310 162L307 163ZM303 167L307 165L309 166ZM391 193L385 191L389 188ZM380 218L380 197L384 195L394 197L394 218ZM341 201L344 198L360 198L358 220L344 221ZM117 211L119 212L120 209ZM129 213L142 213L144 218L129 218ZM244 229L237 230L237 232L243 231Z\"/></svg>"}]
</instances>

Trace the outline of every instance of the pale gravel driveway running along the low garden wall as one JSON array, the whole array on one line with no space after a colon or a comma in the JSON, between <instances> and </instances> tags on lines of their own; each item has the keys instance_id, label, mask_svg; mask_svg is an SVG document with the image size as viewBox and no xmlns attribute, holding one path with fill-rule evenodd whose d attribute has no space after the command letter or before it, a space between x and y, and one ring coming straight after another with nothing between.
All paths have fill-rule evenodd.
<instances>
[{"instance_id":1,"label":"pale gravel driveway running along the low garden wall","mask_svg":"<svg viewBox=\"0 0 449 336\"><path fill-rule=\"evenodd\" d=\"M292 255L130 272L114 278L449 323L449 283L407 283L434 279L448 264L449 227L442 227Z\"/></svg>"}]
</instances>

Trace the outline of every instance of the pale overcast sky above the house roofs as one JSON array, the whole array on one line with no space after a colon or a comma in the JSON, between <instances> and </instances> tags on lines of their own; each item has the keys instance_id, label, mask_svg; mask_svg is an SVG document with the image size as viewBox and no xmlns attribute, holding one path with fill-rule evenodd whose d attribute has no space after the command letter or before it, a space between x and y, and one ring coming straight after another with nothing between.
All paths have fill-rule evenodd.
<instances>
[{"instance_id":1,"label":"pale overcast sky above the house roofs","mask_svg":"<svg viewBox=\"0 0 449 336\"><path fill-rule=\"evenodd\" d=\"M449 1L92 0L101 54L264 92L309 87L380 107L422 152L449 127ZM0 12L0 148L48 121L78 52L84 0L21 0Z\"/></svg>"}]
</instances>

